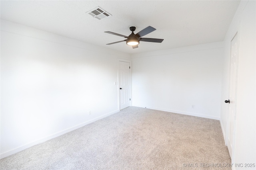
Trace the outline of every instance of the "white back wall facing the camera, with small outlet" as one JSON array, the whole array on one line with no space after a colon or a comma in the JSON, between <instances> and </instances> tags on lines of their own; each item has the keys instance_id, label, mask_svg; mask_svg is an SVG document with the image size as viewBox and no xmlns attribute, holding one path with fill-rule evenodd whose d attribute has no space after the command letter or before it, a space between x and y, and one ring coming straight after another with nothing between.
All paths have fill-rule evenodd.
<instances>
[{"instance_id":1,"label":"white back wall facing the camera, with small outlet","mask_svg":"<svg viewBox=\"0 0 256 170\"><path fill-rule=\"evenodd\" d=\"M222 42L132 55L132 105L219 119L222 58Z\"/></svg>"}]
</instances>

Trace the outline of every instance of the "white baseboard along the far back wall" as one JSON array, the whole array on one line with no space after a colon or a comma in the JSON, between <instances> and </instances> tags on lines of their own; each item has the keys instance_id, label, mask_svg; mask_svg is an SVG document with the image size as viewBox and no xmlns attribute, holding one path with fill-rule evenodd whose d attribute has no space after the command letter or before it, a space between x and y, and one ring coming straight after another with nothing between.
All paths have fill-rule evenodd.
<instances>
[{"instance_id":1,"label":"white baseboard along the far back wall","mask_svg":"<svg viewBox=\"0 0 256 170\"><path fill-rule=\"evenodd\" d=\"M190 115L190 116L204 117L204 118L208 118L208 119L220 120L220 117L209 116L209 115L202 115L202 114L198 114L198 113L190 113L190 112L184 112L184 111L178 111L178 110L170 110L170 109L163 109L163 108L158 108L158 107L148 107L148 106L135 106L135 107L144 107L144 108L146 107L148 109L167 111L167 112L178 113L178 114L182 114L182 115Z\"/></svg>"}]
</instances>

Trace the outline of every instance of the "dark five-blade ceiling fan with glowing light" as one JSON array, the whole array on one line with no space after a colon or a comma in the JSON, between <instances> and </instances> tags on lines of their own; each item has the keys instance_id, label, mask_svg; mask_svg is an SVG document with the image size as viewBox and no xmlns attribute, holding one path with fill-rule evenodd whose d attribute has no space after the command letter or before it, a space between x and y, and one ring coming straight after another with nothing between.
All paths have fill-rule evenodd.
<instances>
[{"instance_id":1,"label":"dark five-blade ceiling fan with glowing light","mask_svg":"<svg viewBox=\"0 0 256 170\"><path fill-rule=\"evenodd\" d=\"M155 28L153 28L151 26L148 26L148 27L142 29L140 32L134 34L133 31L135 31L135 29L136 29L136 27L130 27L130 30L132 31L132 33L129 36L121 35L121 34L118 34L118 33L113 33L113 32L110 32L110 31L105 31L105 33L110 33L110 34L113 34L113 35L118 35L120 37L127 38L123 41L126 41L127 45L132 45L133 49L138 48L138 44L140 43L140 41L153 42L153 43L162 43L162 41L164 41L164 39L142 38L142 36L147 35L148 33L151 33L152 31L156 30ZM109 43L109 44L106 44L106 45L121 43L123 41L117 41L117 42Z\"/></svg>"}]
</instances>

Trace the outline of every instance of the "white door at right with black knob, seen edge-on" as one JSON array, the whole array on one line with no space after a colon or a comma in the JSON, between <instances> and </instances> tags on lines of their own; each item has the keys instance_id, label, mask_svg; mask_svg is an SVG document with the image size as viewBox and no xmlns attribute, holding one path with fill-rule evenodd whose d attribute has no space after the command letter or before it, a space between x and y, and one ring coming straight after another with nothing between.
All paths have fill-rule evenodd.
<instances>
[{"instance_id":1,"label":"white door at right with black knob, seen edge-on","mask_svg":"<svg viewBox=\"0 0 256 170\"><path fill-rule=\"evenodd\" d=\"M228 104L228 122L227 122L227 146L230 158L233 159L234 134L236 123L236 93L238 78L238 36L237 34L231 40L230 51L230 81L229 81L229 102Z\"/></svg>"}]
</instances>

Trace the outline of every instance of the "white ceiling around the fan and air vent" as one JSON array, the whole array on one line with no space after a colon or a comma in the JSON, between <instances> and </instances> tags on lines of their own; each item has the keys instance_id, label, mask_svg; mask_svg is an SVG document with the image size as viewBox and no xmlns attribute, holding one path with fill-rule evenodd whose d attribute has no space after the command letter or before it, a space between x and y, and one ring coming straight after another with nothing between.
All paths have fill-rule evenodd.
<instances>
[{"instance_id":1,"label":"white ceiling around the fan and air vent","mask_svg":"<svg viewBox=\"0 0 256 170\"><path fill-rule=\"evenodd\" d=\"M1 0L0 3L4 20L134 54L223 41L240 1ZM112 16L98 20L86 14L97 6ZM130 26L136 26L134 33L137 33L149 25L156 31L144 37L164 39L162 43L141 41L136 49L125 42L106 45L125 38L104 31L128 36Z\"/></svg>"}]
</instances>

